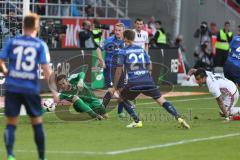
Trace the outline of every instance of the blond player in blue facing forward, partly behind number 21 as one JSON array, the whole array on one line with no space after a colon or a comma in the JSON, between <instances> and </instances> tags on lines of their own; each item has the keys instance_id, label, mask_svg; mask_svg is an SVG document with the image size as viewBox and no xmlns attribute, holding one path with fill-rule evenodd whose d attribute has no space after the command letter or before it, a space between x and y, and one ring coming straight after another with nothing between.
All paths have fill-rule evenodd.
<instances>
[{"instance_id":1,"label":"blond player in blue facing forward, partly behind number 21","mask_svg":"<svg viewBox=\"0 0 240 160\"><path fill-rule=\"evenodd\" d=\"M103 45L97 48L97 56L99 59L99 63L101 67L104 68L103 74L105 78L105 86L107 88L111 88L113 85L113 78L114 73L116 70L116 54L118 54L119 49L123 48L124 41L123 41L123 31L124 31L124 24L117 23L115 25L114 29L114 35L107 38ZM105 51L106 56L103 60L101 50ZM106 95L109 95L109 92L107 92ZM111 96L109 96L110 98ZM118 115L119 117L124 117L123 113L123 104L120 102L118 104Z\"/></svg>"}]
</instances>

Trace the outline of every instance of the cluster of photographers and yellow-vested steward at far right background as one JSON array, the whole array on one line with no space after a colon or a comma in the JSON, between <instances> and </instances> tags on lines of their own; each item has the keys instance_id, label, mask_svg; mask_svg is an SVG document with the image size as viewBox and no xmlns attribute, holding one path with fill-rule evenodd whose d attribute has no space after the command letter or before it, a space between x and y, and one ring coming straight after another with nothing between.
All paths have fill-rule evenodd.
<instances>
[{"instance_id":1,"label":"cluster of photographers and yellow-vested steward at far right background","mask_svg":"<svg viewBox=\"0 0 240 160\"><path fill-rule=\"evenodd\" d=\"M230 22L226 21L222 27L217 28L216 23L201 22L194 33L194 38L199 40L194 51L194 68L202 67L210 71L223 72L230 42L234 35L240 35L240 25L236 33L231 31L230 25Z\"/></svg>"}]
</instances>

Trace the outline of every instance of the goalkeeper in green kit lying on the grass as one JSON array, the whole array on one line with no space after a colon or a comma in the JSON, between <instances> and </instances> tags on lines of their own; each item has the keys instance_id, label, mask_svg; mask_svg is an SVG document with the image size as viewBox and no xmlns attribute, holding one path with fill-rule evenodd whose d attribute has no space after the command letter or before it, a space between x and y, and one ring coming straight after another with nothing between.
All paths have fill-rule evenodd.
<instances>
[{"instance_id":1,"label":"goalkeeper in green kit lying on the grass","mask_svg":"<svg viewBox=\"0 0 240 160\"><path fill-rule=\"evenodd\" d=\"M76 112L88 113L92 118L99 120L108 117L105 108L100 100L84 83L85 73L72 74L67 77L64 74L58 75L56 84L59 89L59 99L73 103Z\"/></svg>"}]
</instances>

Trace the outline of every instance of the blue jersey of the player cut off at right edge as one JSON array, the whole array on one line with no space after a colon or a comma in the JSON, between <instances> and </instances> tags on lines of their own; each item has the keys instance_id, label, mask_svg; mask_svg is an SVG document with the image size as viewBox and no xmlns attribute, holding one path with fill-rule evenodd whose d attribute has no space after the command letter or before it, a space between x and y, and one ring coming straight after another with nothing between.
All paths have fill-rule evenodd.
<instances>
[{"instance_id":1,"label":"blue jersey of the player cut off at right edge","mask_svg":"<svg viewBox=\"0 0 240 160\"><path fill-rule=\"evenodd\" d=\"M228 54L227 61L240 67L240 36L235 36L230 43L231 51Z\"/></svg>"}]
</instances>

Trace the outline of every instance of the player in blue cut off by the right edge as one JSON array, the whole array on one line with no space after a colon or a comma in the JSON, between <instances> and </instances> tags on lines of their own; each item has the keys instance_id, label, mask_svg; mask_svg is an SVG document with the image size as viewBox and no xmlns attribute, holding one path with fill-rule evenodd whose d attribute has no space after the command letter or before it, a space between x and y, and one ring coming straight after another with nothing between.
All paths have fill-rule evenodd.
<instances>
[{"instance_id":1,"label":"player in blue cut off by the right edge","mask_svg":"<svg viewBox=\"0 0 240 160\"><path fill-rule=\"evenodd\" d=\"M230 43L230 52L224 64L224 76L240 87L240 36Z\"/></svg>"}]
</instances>

